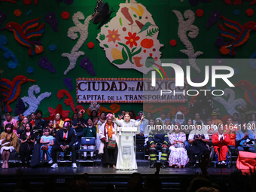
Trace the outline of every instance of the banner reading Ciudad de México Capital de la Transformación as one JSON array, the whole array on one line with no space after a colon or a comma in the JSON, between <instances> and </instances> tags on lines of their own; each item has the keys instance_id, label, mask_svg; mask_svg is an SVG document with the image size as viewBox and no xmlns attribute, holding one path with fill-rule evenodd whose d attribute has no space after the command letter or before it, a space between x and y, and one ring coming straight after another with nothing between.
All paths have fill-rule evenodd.
<instances>
[{"instance_id":1,"label":"banner reading Ciudad de M\u00e9xico Capital de la Transformaci\u00f3n","mask_svg":"<svg viewBox=\"0 0 256 192\"><path fill-rule=\"evenodd\" d=\"M160 95L161 90L172 93ZM142 102L187 102L187 81L184 87L175 87L175 78L157 79L151 87L149 78L78 78L77 102L89 103L142 103Z\"/></svg>"}]
</instances>

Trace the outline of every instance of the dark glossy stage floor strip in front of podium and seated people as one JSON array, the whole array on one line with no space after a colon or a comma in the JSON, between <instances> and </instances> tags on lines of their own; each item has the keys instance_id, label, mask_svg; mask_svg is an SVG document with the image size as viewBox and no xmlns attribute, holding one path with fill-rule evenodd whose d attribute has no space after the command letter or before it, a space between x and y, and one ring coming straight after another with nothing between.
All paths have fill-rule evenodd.
<instances>
[{"instance_id":1,"label":"dark glossy stage floor strip in front of podium and seated people","mask_svg":"<svg viewBox=\"0 0 256 192\"><path fill-rule=\"evenodd\" d=\"M0 174L2 176L5 175L16 175L17 174L17 167L9 168L9 169L0 169ZM222 168L223 175L230 175L231 172L237 170L236 168ZM101 166L79 166L78 169L72 169L71 166L59 166L56 169L51 169L50 167L40 167L40 168L26 168L22 169L23 175L81 175L84 173L88 173L89 175L130 175L133 172L139 172L142 175L154 175L156 169L151 169L149 166L139 166L136 170L117 170L114 168L105 168ZM200 168L166 168L160 169L160 175L194 175L195 172L201 172ZM209 168L208 169L209 175L221 175L220 168Z\"/></svg>"}]
</instances>

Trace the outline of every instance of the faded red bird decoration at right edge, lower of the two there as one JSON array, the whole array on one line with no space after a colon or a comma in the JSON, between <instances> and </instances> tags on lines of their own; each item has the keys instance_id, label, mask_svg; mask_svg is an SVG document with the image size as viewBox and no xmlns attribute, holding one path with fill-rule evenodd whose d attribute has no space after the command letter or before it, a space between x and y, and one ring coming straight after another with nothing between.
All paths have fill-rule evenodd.
<instances>
[{"instance_id":1,"label":"faded red bird decoration at right edge, lower of the two there","mask_svg":"<svg viewBox=\"0 0 256 192\"><path fill-rule=\"evenodd\" d=\"M252 106L256 106L256 85L252 86L249 81L240 80L237 84L235 84L235 86L245 91L244 96L248 103L250 103Z\"/></svg>"}]
</instances>

